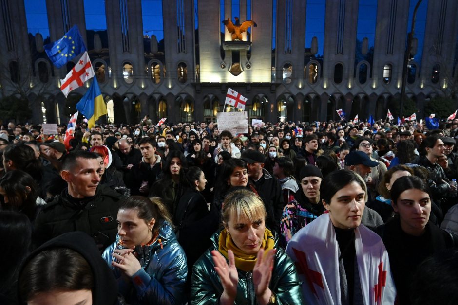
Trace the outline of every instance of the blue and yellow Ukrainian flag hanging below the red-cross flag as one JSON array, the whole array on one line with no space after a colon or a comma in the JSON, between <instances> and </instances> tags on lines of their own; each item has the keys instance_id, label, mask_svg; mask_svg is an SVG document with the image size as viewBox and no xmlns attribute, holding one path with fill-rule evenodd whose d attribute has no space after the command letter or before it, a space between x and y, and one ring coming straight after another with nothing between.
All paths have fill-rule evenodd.
<instances>
[{"instance_id":1,"label":"blue and yellow Ukrainian flag hanging below the red-cross flag","mask_svg":"<svg viewBox=\"0 0 458 305\"><path fill-rule=\"evenodd\" d=\"M93 77L91 87L86 94L76 104L76 109L79 110L88 119L88 128L95 126L95 121L104 114L107 114L107 106L102 97L102 92L98 86L97 79Z\"/></svg>"}]
</instances>

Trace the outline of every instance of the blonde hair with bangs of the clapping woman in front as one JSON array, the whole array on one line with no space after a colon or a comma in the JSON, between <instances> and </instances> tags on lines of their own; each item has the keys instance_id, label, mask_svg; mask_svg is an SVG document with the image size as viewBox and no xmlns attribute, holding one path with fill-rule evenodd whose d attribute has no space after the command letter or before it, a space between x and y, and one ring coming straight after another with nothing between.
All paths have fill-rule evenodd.
<instances>
[{"instance_id":1,"label":"blonde hair with bangs of the clapping woman in front","mask_svg":"<svg viewBox=\"0 0 458 305\"><path fill-rule=\"evenodd\" d=\"M236 222L242 219L266 219L267 212L262 199L246 188L236 188L224 199L222 207L223 223L227 224L231 217Z\"/></svg>"}]
</instances>

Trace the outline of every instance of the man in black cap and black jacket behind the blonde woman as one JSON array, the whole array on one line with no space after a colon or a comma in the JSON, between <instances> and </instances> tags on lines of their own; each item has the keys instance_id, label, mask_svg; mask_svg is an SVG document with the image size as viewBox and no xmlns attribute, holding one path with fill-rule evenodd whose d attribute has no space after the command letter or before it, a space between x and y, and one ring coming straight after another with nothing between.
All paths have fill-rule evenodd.
<instances>
[{"instance_id":1,"label":"man in black cap and black jacket behind the blonde woman","mask_svg":"<svg viewBox=\"0 0 458 305\"><path fill-rule=\"evenodd\" d=\"M280 233L280 219L285 206L280 182L264 169L264 155L260 151L246 149L240 159L247 162L248 178L253 182L266 207L267 227Z\"/></svg>"}]
</instances>

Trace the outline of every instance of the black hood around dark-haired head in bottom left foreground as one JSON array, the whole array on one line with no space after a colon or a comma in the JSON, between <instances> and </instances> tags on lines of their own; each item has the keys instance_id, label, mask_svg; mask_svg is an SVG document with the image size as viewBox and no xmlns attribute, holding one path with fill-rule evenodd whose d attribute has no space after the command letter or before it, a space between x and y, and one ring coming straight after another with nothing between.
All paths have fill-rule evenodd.
<instances>
[{"instance_id":1,"label":"black hood around dark-haired head in bottom left foreground","mask_svg":"<svg viewBox=\"0 0 458 305\"><path fill-rule=\"evenodd\" d=\"M92 270L94 278L94 287L92 288L92 299L94 305L111 305L118 304L118 289L116 280L110 271L110 268L104 263L100 257L100 252L95 246L94 240L87 234L82 232L65 233L50 241L44 243L37 250L33 251L25 260L21 267L20 273L24 266L34 258L38 253L53 248L67 248L78 252L86 259ZM71 266L69 266L70 268ZM20 274L19 273L19 274ZM22 295L19 294L20 304L25 304L26 300L22 300Z\"/></svg>"}]
</instances>

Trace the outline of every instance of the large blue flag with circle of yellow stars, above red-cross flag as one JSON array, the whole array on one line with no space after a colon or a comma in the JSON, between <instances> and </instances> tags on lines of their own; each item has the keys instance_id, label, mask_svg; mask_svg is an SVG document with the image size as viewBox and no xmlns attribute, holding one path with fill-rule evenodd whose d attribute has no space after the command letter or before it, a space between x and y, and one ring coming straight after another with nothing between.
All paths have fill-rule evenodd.
<instances>
[{"instance_id":1,"label":"large blue flag with circle of yellow stars, above red-cross flag","mask_svg":"<svg viewBox=\"0 0 458 305\"><path fill-rule=\"evenodd\" d=\"M59 40L45 45L44 50L57 68L62 67L77 55L87 51L76 25Z\"/></svg>"}]
</instances>

